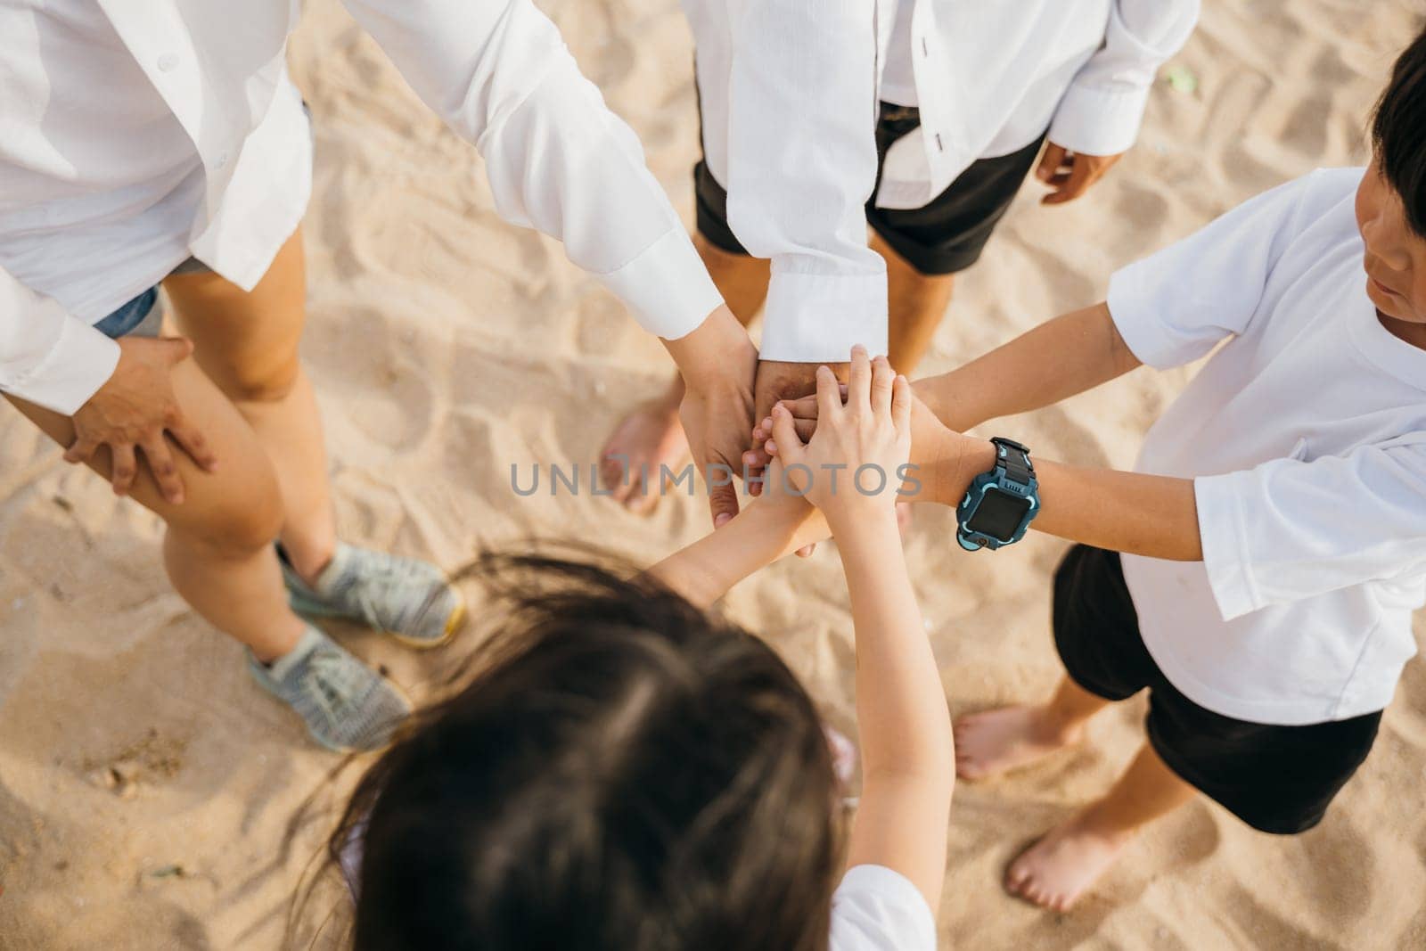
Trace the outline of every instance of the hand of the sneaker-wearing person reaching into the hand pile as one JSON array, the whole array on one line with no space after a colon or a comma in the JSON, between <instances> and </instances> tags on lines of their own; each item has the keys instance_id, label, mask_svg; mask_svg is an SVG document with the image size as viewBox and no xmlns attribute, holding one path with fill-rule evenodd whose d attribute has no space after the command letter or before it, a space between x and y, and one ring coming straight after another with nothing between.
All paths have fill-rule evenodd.
<instances>
[{"instance_id":1,"label":"hand of the sneaker-wearing person reaching into the hand pile","mask_svg":"<svg viewBox=\"0 0 1426 951\"><path fill-rule=\"evenodd\" d=\"M683 375L679 419L693 463L707 480L713 528L737 515L737 483L753 425L753 378L757 348L727 307L719 307L696 331L665 341Z\"/></svg>"}]
</instances>

